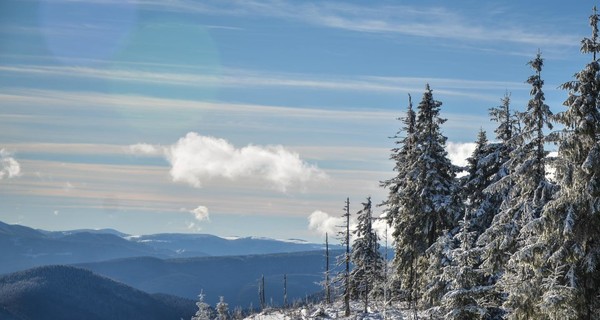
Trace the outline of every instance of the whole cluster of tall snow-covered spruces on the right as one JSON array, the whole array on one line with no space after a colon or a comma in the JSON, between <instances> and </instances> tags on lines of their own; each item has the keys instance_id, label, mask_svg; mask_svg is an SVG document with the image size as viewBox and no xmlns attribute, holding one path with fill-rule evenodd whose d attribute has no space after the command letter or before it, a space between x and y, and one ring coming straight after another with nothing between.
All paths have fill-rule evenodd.
<instances>
[{"instance_id":1,"label":"whole cluster of tall snow-covered spruces on the right","mask_svg":"<svg viewBox=\"0 0 600 320\"><path fill-rule=\"evenodd\" d=\"M561 86L565 110L545 103L538 51L525 110L509 94L491 108L495 140L481 130L465 168L448 159L429 85L416 111L409 96L395 176L381 182L395 299L436 318L600 319L598 20L594 8L581 42L591 61Z\"/></svg>"}]
</instances>

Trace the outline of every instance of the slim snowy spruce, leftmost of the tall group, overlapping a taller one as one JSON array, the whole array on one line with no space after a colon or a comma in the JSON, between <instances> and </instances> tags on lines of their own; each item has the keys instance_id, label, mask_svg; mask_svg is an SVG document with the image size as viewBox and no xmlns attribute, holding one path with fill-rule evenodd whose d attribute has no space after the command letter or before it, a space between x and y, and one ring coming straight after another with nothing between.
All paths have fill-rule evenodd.
<instances>
[{"instance_id":1,"label":"slim snowy spruce, leftmost of the tall group, overlapping a taller one","mask_svg":"<svg viewBox=\"0 0 600 320\"><path fill-rule=\"evenodd\" d=\"M413 167L417 161L416 153L416 114L413 111L410 95L408 96L408 108L406 116L399 118L403 127L392 137L396 139L397 147L392 149L390 159L394 161L396 176L381 182L381 186L388 189L388 198L381 206L387 222L392 228L392 237L395 242L395 255L393 261L394 274L391 278L390 291L392 298L405 297L409 302L414 301L412 295L416 274L415 266L418 257L417 252L423 253L427 246L425 243L412 241L421 232L418 222L408 215L406 205L410 203L413 195L408 186L412 183Z\"/></svg>"}]
</instances>

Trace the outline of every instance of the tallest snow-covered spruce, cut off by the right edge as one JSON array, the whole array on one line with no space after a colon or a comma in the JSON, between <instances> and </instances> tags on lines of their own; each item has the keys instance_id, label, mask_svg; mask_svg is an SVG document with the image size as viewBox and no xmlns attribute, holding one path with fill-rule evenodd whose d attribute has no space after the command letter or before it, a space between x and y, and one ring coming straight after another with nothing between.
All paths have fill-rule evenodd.
<instances>
[{"instance_id":1,"label":"tallest snow-covered spruce, cut off by the right edge","mask_svg":"<svg viewBox=\"0 0 600 320\"><path fill-rule=\"evenodd\" d=\"M564 125L556 134L556 178L561 189L544 208L540 242L549 250L551 270L558 273L552 287L571 288L573 299L564 302L545 295L540 308L547 317L571 309L574 319L600 319L599 20L594 7L592 37L585 38L581 47L583 53L592 53L592 61L575 74L575 80L562 85L569 90L567 110L556 116Z\"/></svg>"}]
</instances>

